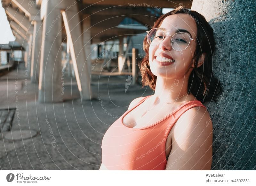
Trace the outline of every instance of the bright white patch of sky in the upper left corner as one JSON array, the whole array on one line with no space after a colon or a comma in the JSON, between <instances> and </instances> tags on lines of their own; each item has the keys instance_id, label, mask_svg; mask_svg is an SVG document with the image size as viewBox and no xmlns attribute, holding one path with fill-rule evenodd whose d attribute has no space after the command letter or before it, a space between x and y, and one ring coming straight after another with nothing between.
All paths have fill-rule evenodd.
<instances>
[{"instance_id":1,"label":"bright white patch of sky in the upper left corner","mask_svg":"<svg viewBox=\"0 0 256 186\"><path fill-rule=\"evenodd\" d=\"M2 7L2 1L0 3L0 28L0 44L8 44L15 40L5 10Z\"/></svg>"}]
</instances>

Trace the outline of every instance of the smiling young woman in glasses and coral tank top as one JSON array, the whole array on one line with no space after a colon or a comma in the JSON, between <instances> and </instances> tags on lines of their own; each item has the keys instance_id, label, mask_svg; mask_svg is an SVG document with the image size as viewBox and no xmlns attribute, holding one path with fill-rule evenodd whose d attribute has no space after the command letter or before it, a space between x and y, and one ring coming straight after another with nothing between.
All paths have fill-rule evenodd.
<instances>
[{"instance_id":1,"label":"smiling young woman in glasses and coral tank top","mask_svg":"<svg viewBox=\"0 0 256 186\"><path fill-rule=\"evenodd\" d=\"M162 15L144 39L142 85L102 140L100 170L210 170L212 121L202 105L222 92L212 74L213 30L182 6Z\"/></svg>"}]
</instances>

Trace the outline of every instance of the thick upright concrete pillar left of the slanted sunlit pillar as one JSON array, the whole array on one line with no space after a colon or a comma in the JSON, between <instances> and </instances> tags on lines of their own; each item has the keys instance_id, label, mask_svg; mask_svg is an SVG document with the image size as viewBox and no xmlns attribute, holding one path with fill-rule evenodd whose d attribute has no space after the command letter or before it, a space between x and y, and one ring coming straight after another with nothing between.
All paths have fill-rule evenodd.
<instances>
[{"instance_id":1,"label":"thick upright concrete pillar left of the slanted sunlit pillar","mask_svg":"<svg viewBox=\"0 0 256 186\"><path fill-rule=\"evenodd\" d=\"M61 9L57 1L46 2L43 21L38 100L41 103L62 101L61 98Z\"/></svg>"}]
</instances>

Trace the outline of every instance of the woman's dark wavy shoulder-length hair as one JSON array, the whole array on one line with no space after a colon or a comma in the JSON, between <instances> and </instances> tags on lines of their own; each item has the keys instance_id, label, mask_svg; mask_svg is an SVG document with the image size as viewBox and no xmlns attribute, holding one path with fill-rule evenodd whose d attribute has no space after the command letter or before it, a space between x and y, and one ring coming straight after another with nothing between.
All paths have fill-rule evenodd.
<instances>
[{"instance_id":1,"label":"woman's dark wavy shoulder-length hair","mask_svg":"<svg viewBox=\"0 0 256 186\"><path fill-rule=\"evenodd\" d=\"M188 79L188 92L191 92L196 99L200 100L202 103L211 100L214 100L216 103L216 97L222 93L223 89L220 81L216 79L212 73L212 54L215 51L215 40L213 37L213 29L205 20L204 16L196 11L179 6L157 19L152 28L158 28L167 16L179 13L190 15L195 20L197 27L197 44L194 53L195 68ZM149 67L149 44L147 42L147 37L144 38L143 49L146 52L146 56L140 62L142 88L149 85L152 90L155 90L157 77L151 72ZM197 67L198 60L203 53L206 54L204 63Z\"/></svg>"}]
</instances>

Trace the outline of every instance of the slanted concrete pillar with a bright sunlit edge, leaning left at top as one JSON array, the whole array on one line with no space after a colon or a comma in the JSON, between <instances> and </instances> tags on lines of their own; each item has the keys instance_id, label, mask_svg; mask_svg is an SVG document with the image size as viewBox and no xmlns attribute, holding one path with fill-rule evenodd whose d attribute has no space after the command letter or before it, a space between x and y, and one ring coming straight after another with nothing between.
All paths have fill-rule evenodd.
<instances>
[{"instance_id":1,"label":"slanted concrete pillar with a bright sunlit edge, leaning left at top","mask_svg":"<svg viewBox=\"0 0 256 186\"><path fill-rule=\"evenodd\" d=\"M91 59L85 55L81 24L77 6L71 7L68 11L62 11L64 25L68 37L68 44L70 47L70 54L76 75L77 86L82 99L92 98L92 89L90 88L90 75L88 64ZM88 40L87 36L85 40ZM90 46L90 45L89 45ZM87 48L87 47L86 47Z\"/></svg>"}]
</instances>

